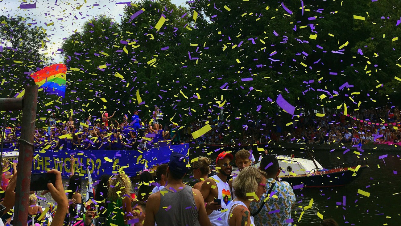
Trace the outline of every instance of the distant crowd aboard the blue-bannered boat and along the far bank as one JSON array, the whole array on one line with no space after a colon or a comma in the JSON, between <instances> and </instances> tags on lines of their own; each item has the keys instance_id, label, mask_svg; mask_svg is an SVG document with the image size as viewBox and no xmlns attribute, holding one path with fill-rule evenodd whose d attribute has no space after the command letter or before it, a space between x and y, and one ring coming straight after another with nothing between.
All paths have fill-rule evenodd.
<instances>
[{"instance_id":1,"label":"distant crowd aboard the blue-bannered boat and along the far bank","mask_svg":"<svg viewBox=\"0 0 401 226\"><path fill-rule=\"evenodd\" d=\"M158 107L152 117L141 120L135 111L130 120L124 115L122 121L103 112L101 117L93 120L89 115L85 120L77 121L73 117L62 121L51 115L46 126L35 129L35 148L63 150L144 150L157 147L160 141L171 140L172 143L196 143L214 145L252 145L267 142L286 142L298 144L343 143L350 145L363 144L401 144L401 130L398 120L401 119L397 107L381 109L362 109L349 112L326 112L324 117L313 114L293 117L284 122L282 117L258 119L247 115L247 123L241 132L230 127L230 121L198 120L188 125L163 121L163 114ZM148 121L148 122L147 122ZM211 130L193 139L192 133L209 123ZM21 125L6 128L5 147L18 148Z\"/></svg>"}]
</instances>

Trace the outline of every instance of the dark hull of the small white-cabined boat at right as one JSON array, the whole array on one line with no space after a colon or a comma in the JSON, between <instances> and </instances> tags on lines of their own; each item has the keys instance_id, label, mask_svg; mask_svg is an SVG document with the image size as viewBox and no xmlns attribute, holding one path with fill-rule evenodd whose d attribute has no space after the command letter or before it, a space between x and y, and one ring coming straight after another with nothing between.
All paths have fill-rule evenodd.
<instances>
[{"instance_id":1,"label":"dark hull of the small white-cabined boat at right","mask_svg":"<svg viewBox=\"0 0 401 226\"><path fill-rule=\"evenodd\" d=\"M339 187L354 181L366 167L360 166L357 171L355 171L355 167L331 169L327 173L285 176L279 177L279 179L290 183L293 188L300 188L302 185L309 188Z\"/></svg>"}]
</instances>

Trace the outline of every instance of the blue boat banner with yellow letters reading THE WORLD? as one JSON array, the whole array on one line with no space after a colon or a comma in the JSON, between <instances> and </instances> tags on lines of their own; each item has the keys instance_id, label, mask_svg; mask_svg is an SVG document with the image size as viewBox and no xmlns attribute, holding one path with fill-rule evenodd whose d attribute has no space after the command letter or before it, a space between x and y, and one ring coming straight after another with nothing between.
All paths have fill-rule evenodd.
<instances>
[{"instance_id":1,"label":"blue boat banner with yellow letters reading THE WORLD?","mask_svg":"<svg viewBox=\"0 0 401 226\"><path fill-rule=\"evenodd\" d=\"M75 173L87 177L87 166L93 177L103 174L112 175L122 168L126 174L134 177L146 166L167 163L171 152L188 156L189 144L152 148L145 152L125 150L34 150L32 173L43 173L50 169L61 171L62 175L70 172L70 157L74 154ZM10 152L12 149L4 149Z\"/></svg>"}]
</instances>

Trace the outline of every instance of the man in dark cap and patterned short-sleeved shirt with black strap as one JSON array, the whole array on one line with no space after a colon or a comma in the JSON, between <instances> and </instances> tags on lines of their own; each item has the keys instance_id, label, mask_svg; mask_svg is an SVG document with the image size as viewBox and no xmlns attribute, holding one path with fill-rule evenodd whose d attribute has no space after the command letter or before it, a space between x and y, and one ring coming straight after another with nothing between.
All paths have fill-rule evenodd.
<instances>
[{"instance_id":1,"label":"man in dark cap and patterned short-sleeved shirt with black strap","mask_svg":"<svg viewBox=\"0 0 401 226\"><path fill-rule=\"evenodd\" d=\"M288 182L278 181L280 174L278 160L273 155L266 155L260 162L259 169L267 174L266 190L260 203L251 203L250 210L255 226L291 225L291 208L295 205L295 194ZM276 197L264 200L274 192Z\"/></svg>"}]
</instances>

